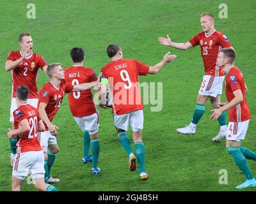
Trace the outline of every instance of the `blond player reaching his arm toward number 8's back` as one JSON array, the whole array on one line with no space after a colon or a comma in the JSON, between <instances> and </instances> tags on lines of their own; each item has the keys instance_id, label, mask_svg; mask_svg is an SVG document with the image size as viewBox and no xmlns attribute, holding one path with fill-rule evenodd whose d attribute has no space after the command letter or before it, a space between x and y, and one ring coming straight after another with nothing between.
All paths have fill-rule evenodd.
<instances>
[{"instance_id":1,"label":"blond player reaching his arm toward number 8's back","mask_svg":"<svg viewBox=\"0 0 256 204\"><path fill-rule=\"evenodd\" d=\"M47 66L46 73L50 78L50 82L44 84L40 89L38 100L38 111L45 125L45 131L40 137L40 144L45 156L45 183L55 183L60 181L51 177L52 164L59 151L56 140L58 127L52 124L51 121L58 112L65 93L85 91L99 85L99 82L95 81L77 85L66 84L64 70L61 64L58 63ZM47 154L48 147L49 152Z\"/></svg>"}]
</instances>

